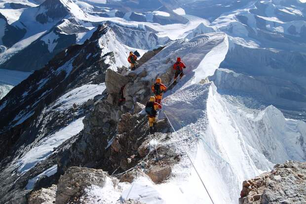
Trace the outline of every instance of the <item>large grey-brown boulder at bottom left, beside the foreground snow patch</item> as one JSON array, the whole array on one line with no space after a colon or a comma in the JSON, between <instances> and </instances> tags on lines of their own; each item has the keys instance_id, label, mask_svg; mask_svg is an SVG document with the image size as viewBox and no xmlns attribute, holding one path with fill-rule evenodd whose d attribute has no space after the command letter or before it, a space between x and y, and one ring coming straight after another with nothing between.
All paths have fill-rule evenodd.
<instances>
[{"instance_id":1,"label":"large grey-brown boulder at bottom left, beside the foreground snow patch","mask_svg":"<svg viewBox=\"0 0 306 204\"><path fill-rule=\"evenodd\" d=\"M103 187L106 177L107 173L102 169L76 166L68 168L58 181L55 204L66 204L79 191L88 186Z\"/></svg>"}]
</instances>

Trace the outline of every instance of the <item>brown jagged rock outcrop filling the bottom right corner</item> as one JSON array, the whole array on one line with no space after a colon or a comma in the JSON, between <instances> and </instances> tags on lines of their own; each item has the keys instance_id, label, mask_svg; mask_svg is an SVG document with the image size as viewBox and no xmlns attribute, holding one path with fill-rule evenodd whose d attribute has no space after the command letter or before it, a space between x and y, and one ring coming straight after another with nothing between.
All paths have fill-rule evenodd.
<instances>
[{"instance_id":1,"label":"brown jagged rock outcrop filling the bottom right corner","mask_svg":"<svg viewBox=\"0 0 306 204\"><path fill-rule=\"evenodd\" d=\"M277 164L269 173L243 182L239 204L305 204L304 175L306 163Z\"/></svg>"}]
</instances>

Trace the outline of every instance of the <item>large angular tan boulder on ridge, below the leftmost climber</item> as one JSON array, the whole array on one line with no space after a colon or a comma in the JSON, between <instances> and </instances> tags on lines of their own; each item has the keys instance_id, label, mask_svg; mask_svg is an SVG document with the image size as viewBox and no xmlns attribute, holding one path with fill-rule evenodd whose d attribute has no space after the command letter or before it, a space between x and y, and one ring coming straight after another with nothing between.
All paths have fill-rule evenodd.
<instances>
[{"instance_id":1,"label":"large angular tan boulder on ridge, below the leftmost climber","mask_svg":"<svg viewBox=\"0 0 306 204\"><path fill-rule=\"evenodd\" d=\"M108 93L119 94L121 87L127 84L128 81L128 78L111 69L106 72L105 85Z\"/></svg>"}]
</instances>

